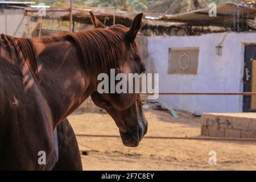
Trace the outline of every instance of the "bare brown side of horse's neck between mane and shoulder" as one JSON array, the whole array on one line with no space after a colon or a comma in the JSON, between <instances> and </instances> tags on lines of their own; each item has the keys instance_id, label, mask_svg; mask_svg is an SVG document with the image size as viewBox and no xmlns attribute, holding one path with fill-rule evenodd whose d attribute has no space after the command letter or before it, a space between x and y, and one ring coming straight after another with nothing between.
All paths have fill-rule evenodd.
<instances>
[{"instance_id":1,"label":"bare brown side of horse's neck between mane and shoulder","mask_svg":"<svg viewBox=\"0 0 256 182\"><path fill-rule=\"evenodd\" d=\"M94 91L75 44L32 41L39 68L39 87L53 116L54 125L79 107Z\"/></svg>"}]
</instances>

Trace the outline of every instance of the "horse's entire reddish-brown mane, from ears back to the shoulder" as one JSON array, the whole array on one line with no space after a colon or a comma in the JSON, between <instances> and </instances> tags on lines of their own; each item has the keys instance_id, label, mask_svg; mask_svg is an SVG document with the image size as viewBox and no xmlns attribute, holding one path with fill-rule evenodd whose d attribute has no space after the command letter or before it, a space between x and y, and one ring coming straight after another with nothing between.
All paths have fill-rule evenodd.
<instances>
[{"instance_id":1,"label":"horse's entire reddish-brown mane, from ears back to the shoulder","mask_svg":"<svg viewBox=\"0 0 256 182\"><path fill-rule=\"evenodd\" d=\"M109 28L96 28L93 30L82 30L79 32L70 32L61 36L44 36L38 39L42 43L59 42L68 40L75 43L80 59L84 64L85 72L92 76L92 80L97 81L100 73L109 73L110 68L118 67L118 60L123 59L123 55L127 51L131 51L133 55L138 55L139 47L135 43L136 48L131 49L129 40L126 38L128 29L122 25L115 25ZM18 55L21 63L27 64L32 76L38 83L38 65L36 61L35 49L31 39L14 38L12 36L2 35L7 42L11 42L16 55ZM8 43L9 44L9 43ZM10 50L11 55L14 55Z\"/></svg>"}]
</instances>

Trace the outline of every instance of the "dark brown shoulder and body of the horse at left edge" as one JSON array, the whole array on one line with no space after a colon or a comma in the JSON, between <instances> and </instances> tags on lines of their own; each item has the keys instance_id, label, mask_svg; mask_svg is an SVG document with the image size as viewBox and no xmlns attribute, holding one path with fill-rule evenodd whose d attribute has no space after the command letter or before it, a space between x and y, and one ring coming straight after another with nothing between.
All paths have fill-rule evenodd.
<instances>
[{"instance_id":1,"label":"dark brown shoulder and body of the horse at left edge","mask_svg":"<svg viewBox=\"0 0 256 182\"><path fill-rule=\"evenodd\" d=\"M13 44L1 38L0 170L44 169L38 152L46 152L47 161L52 155L51 111Z\"/></svg>"}]
</instances>

